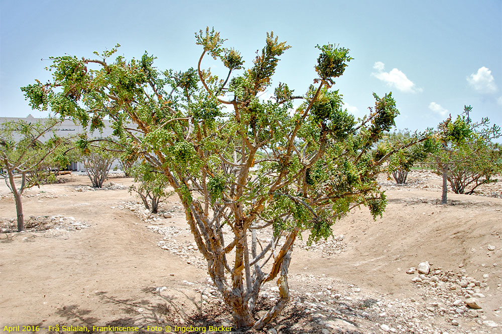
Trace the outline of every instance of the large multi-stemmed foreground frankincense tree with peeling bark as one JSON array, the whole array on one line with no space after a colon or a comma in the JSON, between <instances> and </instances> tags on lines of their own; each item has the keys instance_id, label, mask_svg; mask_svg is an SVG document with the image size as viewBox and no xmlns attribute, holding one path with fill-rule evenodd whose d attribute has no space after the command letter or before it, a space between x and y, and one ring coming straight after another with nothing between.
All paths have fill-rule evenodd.
<instances>
[{"instance_id":1,"label":"large multi-stemmed foreground frankincense tree with peeling bark","mask_svg":"<svg viewBox=\"0 0 502 334\"><path fill-rule=\"evenodd\" d=\"M386 197L376 176L399 148L377 143L399 112L390 93L374 94L370 114L359 120L342 108L331 88L352 59L348 49L317 46L318 77L305 94L279 83L263 101L290 48L285 42L267 34L244 69L218 32L200 31L196 40L196 69L161 71L147 53L113 60L112 49L97 59L53 58L52 81L25 90L35 107L90 127L109 117L124 154L148 162L178 194L235 325L263 328L290 298L288 268L303 231L309 241L328 237L332 224L360 205L382 215ZM223 63L223 79L201 69L205 56ZM258 318L260 289L274 280L279 298Z\"/></svg>"}]
</instances>

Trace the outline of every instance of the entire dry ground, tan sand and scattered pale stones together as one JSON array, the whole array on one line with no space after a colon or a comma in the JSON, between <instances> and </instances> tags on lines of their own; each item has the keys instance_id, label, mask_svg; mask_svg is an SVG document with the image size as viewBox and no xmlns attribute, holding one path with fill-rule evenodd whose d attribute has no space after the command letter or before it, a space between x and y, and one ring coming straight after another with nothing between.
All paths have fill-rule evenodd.
<instances>
[{"instance_id":1,"label":"entire dry ground, tan sand and scattered pale stones together","mask_svg":"<svg viewBox=\"0 0 502 334\"><path fill-rule=\"evenodd\" d=\"M130 178L99 190L86 176L60 180L25 193L22 233L0 185L2 328L231 326L176 196L153 215L128 192ZM381 178L383 218L361 207L328 240L297 240L291 301L264 332L502 332L502 182L440 205L440 181L427 171L405 186ZM263 304L277 297L268 284Z\"/></svg>"}]
</instances>

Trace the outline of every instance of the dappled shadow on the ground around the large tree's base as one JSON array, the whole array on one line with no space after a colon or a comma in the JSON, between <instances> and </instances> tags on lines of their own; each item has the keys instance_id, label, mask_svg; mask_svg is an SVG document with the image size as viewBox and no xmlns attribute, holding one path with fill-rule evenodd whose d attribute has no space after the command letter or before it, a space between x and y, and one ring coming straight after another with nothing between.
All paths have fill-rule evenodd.
<instances>
[{"instance_id":1,"label":"dappled shadow on the ground around the large tree's base","mask_svg":"<svg viewBox=\"0 0 502 334\"><path fill-rule=\"evenodd\" d=\"M231 309L228 306L216 302L203 303L202 300L199 302L196 297L190 297L180 290L170 291L159 292L155 287L145 287L142 292L148 296L143 298L118 298L105 291L96 292L96 295L104 303L118 305L122 312L127 314L106 323L91 316L91 310L81 309L78 305L63 306L56 313L64 317L71 325L87 326L88 331L85 331L87 334L94 332L93 326L139 327L138 332L145 334L167 333L165 330L167 326L171 326L172 332L175 332L175 326L206 327L207 329L209 326L233 326ZM183 296L180 297L172 292L180 293ZM378 321L378 317L368 317L368 314L362 314L366 308L370 308L376 302L377 300L371 298L364 299L354 305L338 301L331 304L333 311L321 311L320 313L323 314L324 321L338 321L337 323L341 324L341 327L335 330L339 332L361 333L359 328L353 329L352 327L352 329L346 330L343 328L343 323L348 322L354 327L359 327L354 318ZM260 298L256 306L256 319L270 310L273 305L274 303L268 298ZM318 321L319 318L316 318L313 313L307 313L306 309L305 305L289 303L278 317L267 324L266 328L274 327L278 332L284 334L319 333L324 325L321 325ZM148 326L158 326L159 330L155 331L151 328L147 330ZM232 328L232 332L257 334L264 331L257 331L253 328L238 330ZM65 331L65 333L69 332ZM74 333L81 332L74 331Z\"/></svg>"}]
</instances>

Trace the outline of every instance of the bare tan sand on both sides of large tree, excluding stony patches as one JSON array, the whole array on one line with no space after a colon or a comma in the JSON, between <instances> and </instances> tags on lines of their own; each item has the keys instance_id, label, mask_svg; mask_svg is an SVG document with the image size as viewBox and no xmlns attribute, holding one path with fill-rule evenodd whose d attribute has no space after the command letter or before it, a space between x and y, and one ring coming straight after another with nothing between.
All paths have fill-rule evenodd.
<instances>
[{"instance_id":1,"label":"bare tan sand on both sides of large tree, excluding stony patches","mask_svg":"<svg viewBox=\"0 0 502 334\"><path fill-rule=\"evenodd\" d=\"M424 178L425 187L420 181ZM73 217L88 227L0 234L2 329L17 324L190 324L187 321L194 321L197 314L211 310L210 303L202 303L207 273L203 266L195 264L197 255L187 260L162 249L157 244L162 237L147 228L150 224L135 212L120 208L124 202L137 200L127 191L132 179L111 178L109 181L124 189L97 191L76 191L90 185L85 176L65 179L66 183L28 190L23 202L25 217ZM476 280L482 280L485 274L489 278L483 280L488 287L482 290L484 318L461 317L460 326L452 327L448 322L451 319L434 313L425 320L428 323L423 332L435 332L435 325L443 328L436 327L437 332L500 332L502 198L449 193L450 204L444 206L438 204L438 182L418 172L410 176L410 186L398 187L382 180L389 201L383 218L373 221L364 208L343 217L334 226L334 235L343 235L335 253L316 247L307 250L299 244L290 268L293 294L316 293L328 283L332 284L331 290L347 295L359 287L366 293L365 300L373 295L382 300L400 300L416 305L420 315L438 292L431 294L412 283L406 270L429 261L431 267L463 270ZM491 186L490 191L502 188L500 182ZM165 203L174 211L174 217L159 224L180 230L186 227L177 204L175 198ZM15 216L14 199L1 184L0 221ZM176 238L190 242L188 232ZM495 246L495 250L487 250L488 245ZM156 292L158 287L165 288ZM311 315L303 311L296 315L298 321L311 322ZM291 317L293 313L286 314ZM398 317L387 321L397 323ZM354 332L387 331L381 327L386 321L383 318L360 318L359 324L359 318L351 321L358 326ZM498 327L483 326L480 320L495 321ZM289 323L286 315L282 321ZM288 332L289 325L281 325L281 319L277 323L279 332ZM432 331L427 331L429 327ZM321 331L319 326L310 325L305 332Z\"/></svg>"}]
</instances>

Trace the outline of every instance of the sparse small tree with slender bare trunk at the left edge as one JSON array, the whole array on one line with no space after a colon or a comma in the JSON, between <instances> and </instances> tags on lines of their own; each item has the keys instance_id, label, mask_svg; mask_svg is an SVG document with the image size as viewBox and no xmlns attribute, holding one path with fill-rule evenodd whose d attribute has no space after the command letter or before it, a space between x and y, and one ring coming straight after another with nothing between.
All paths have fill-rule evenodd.
<instances>
[{"instance_id":1,"label":"sparse small tree with slender bare trunk at the left edge","mask_svg":"<svg viewBox=\"0 0 502 334\"><path fill-rule=\"evenodd\" d=\"M55 151L64 142L54 134L54 127L60 123L61 120L50 118L46 122L0 124L0 176L14 195L18 232L25 229L23 192L41 182L55 179L47 165L53 161ZM59 163L54 160L52 165ZM19 183L16 178L19 178Z\"/></svg>"}]
</instances>

